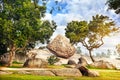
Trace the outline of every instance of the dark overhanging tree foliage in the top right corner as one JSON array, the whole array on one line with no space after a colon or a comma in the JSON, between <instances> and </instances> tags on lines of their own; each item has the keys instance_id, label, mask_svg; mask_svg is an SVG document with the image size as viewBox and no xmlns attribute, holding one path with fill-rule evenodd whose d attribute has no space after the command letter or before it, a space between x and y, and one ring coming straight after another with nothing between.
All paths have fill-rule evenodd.
<instances>
[{"instance_id":1,"label":"dark overhanging tree foliage in the top right corner","mask_svg":"<svg viewBox=\"0 0 120 80\"><path fill-rule=\"evenodd\" d=\"M116 14L120 14L120 0L108 0L108 9L114 9Z\"/></svg>"}]
</instances>

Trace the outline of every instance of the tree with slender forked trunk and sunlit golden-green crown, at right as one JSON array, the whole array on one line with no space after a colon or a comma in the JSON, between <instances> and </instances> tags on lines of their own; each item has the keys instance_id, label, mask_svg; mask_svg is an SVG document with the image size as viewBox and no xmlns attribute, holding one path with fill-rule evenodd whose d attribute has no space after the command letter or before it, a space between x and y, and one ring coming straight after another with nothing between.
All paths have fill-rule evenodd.
<instances>
[{"instance_id":1,"label":"tree with slender forked trunk and sunlit golden-green crown, at right","mask_svg":"<svg viewBox=\"0 0 120 80\"><path fill-rule=\"evenodd\" d=\"M82 43L89 51L90 58L92 51L104 44L103 38L117 31L114 27L114 22L107 16L96 15L92 17L90 22L87 21L72 21L67 24L65 35L70 39L72 44Z\"/></svg>"}]
</instances>

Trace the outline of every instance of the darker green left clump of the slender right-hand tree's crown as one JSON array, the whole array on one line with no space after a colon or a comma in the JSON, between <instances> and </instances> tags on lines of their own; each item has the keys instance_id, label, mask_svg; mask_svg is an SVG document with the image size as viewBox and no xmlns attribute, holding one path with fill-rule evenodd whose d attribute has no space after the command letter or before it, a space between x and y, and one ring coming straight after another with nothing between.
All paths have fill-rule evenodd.
<instances>
[{"instance_id":1,"label":"darker green left clump of the slender right-hand tree's crown","mask_svg":"<svg viewBox=\"0 0 120 80\"><path fill-rule=\"evenodd\" d=\"M88 24L87 21L72 21L68 23L65 30L65 34L70 39L70 42L75 44L84 40L88 34Z\"/></svg>"}]
</instances>

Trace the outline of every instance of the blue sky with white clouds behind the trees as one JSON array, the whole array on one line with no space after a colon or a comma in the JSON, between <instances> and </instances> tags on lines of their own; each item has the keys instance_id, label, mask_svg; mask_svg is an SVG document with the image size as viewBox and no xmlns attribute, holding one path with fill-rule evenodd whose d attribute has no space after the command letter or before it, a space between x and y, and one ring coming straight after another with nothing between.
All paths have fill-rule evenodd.
<instances>
[{"instance_id":1,"label":"blue sky with white clouds behind the trees","mask_svg":"<svg viewBox=\"0 0 120 80\"><path fill-rule=\"evenodd\" d=\"M58 5L54 1L58 1ZM47 3L47 12L44 17L45 20L54 20L58 27L52 38L58 34L65 35L65 28L67 23L73 20L86 20L90 21L92 16L96 14L102 14L109 16L116 23L116 26L120 26L120 15L116 15L114 10L107 10L108 6L105 5L107 0L48 0ZM55 10L53 14L50 14L49 11L52 7L60 6L60 11ZM105 44L96 51L105 51L107 49L114 50L115 45L120 43L119 34L106 37L104 39ZM83 50L85 50L83 48Z\"/></svg>"}]
</instances>

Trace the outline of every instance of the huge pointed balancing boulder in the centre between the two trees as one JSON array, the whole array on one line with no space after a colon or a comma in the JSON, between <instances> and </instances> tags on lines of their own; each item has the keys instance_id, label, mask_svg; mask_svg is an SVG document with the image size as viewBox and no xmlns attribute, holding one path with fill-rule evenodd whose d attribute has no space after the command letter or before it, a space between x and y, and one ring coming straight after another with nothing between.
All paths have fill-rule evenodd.
<instances>
[{"instance_id":1,"label":"huge pointed balancing boulder in the centre between the two trees","mask_svg":"<svg viewBox=\"0 0 120 80\"><path fill-rule=\"evenodd\" d=\"M74 55L75 47L72 46L69 40L62 35L58 35L52 42L47 45L47 48L58 57L69 58Z\"/></svg>"}]
</instances>

